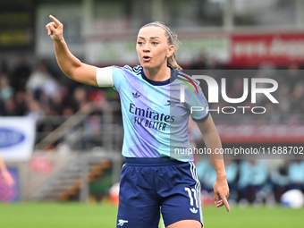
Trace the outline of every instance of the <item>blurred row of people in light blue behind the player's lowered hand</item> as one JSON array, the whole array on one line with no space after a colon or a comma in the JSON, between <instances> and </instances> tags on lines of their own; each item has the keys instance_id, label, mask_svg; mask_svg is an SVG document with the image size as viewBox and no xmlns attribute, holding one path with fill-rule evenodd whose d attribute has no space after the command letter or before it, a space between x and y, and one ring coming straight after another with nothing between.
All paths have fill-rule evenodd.
<instances>
[{"instance_id":1,"label":"blurred row of people in light blue behind the player's lowered hand","mask_svg":"<svg viewBox=\"0 0 304 228\"><path fill-rule=\"evenodd\" d=\"M275 204L287 190L304 193L303 160L225 160L230 200L242 205ZM203 195L213 198L216 174L210 160L197 163ZM207 198L207 197L206 197Z\"/></svg>"}]
</instances>

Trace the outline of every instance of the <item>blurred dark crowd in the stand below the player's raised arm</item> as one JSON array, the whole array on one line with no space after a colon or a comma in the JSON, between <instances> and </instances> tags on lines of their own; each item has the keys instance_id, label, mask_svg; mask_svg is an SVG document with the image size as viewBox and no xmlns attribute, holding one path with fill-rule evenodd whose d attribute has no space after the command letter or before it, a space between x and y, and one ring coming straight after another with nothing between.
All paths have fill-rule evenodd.
<instances>
[{"instance_id":1,"label":"blurred dark crowd in the stand below the player's raised arm","mask_svg":"<svg viewBox=\"0 0 304 228\"><path fill-rule=\"evenodd\" d=\"M20 57L13 67L0 61L0 116L29 116L36 120L37 142L89 102L97 106L89 114L85 129L95 131L102 123L102 107L112 100L118 100L113 89L70 80L50 61L39 60L31 65Z\"/></svg>"}]
</instances>

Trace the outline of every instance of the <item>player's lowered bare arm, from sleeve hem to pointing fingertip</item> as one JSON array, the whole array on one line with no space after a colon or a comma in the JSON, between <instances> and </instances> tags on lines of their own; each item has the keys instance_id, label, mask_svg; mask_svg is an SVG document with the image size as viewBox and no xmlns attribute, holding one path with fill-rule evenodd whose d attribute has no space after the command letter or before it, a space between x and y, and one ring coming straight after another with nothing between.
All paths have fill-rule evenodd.
<instances>
[{"instance_id":1,"label":"player's lowered bare arm, from sleeve hem to pointing fingertip","mask_svg":"<svg viewBox=\"0 0 304 228\"><path fill-rule=\"evenodd\" d=\"M230 211L228 204L229 187L226 181L226 172L224 169L224 158L223 155L216 155L215 152L222 148L221 139L216 131L215 123L211 115L207 117L205 122L198 122L198 128L203 135L206 147L211 149L211 159L215 166L216 181L214 185L215 190L215 204L217 207L225 206L227 211ZM215 150L216 149L216 150ZM218 200L222 198L221 200Z\"/></svg>"}]
</instances>

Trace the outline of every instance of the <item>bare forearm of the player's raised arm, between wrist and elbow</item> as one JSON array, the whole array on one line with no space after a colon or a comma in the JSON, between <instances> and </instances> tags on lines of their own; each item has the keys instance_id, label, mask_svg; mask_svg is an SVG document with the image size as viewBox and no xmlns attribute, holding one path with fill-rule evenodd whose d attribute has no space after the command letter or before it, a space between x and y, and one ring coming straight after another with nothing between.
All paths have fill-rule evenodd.
<instances>
[{"instance_id":1,"label":"bare forearm of the player's raised arm, between wrist and elbow","mask_svg":"<svg viewBox=\"0 0 304 228\"><path fill-rule=\"evenodd\" d=\"M74 72L81 66L81 62L69 51L64 39L54 42L57 63L63 73L70 79L74 79Z\"/></svg>"}]
</instances>

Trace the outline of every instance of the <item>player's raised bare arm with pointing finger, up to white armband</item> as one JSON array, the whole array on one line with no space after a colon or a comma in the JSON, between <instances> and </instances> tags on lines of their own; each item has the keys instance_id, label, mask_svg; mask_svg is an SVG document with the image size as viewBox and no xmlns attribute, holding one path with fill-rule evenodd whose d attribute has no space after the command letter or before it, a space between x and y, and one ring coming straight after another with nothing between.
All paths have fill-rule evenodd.
<instances>
[{"instance_id":1,"label":"player's raised bare arm with pointing finger, up to white armband","mask_svg":"<svg viewBox=\"0 0 304 228\"><path fill-rule=\"evenodd\" d=\"M63 24L52 15L49 17L53 22L49 22L46 25L46 29L48 30L48 35L54 41L55 55L60 69L72 80L98 86L96 79L97 67L81 63L78 58L72 55L63 39Z\"/></svg>"}]
</instances>

